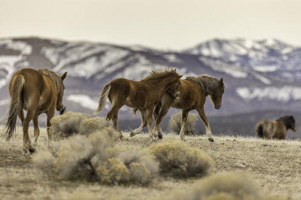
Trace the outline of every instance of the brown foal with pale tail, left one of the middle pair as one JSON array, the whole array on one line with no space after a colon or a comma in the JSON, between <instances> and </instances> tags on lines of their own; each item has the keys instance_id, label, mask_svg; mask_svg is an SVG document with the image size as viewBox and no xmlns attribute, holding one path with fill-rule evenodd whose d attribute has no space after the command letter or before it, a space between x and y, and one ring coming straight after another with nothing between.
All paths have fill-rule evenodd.
<instances>
[{"instance_id":1,"label":"brown foal with pale tail, left one of the middle pair","mask_svg":"<svg viewBox=\"0 0 301 200\"><path fill-rule=\"evenodd\" d=\"M121 106L126 105L140 109L145 114L143 115L145 118L142 118L143 123L148 122L149 136L155 141L156 138L152 132L153 109L160 101L162 94L166 91L171 93L171 88L178 88L172 95L174 97L179 96L181 77L182 75L179 75L176 70L165 69L165 71L152 71L140 81L125 78L114 79L103 88L99 98L98 109L94 114L100 113L105 106L107 98L109 98L112 108L107 113L106 120L110 121L112 119L116 130L120 133L120 138L122 138L123 136L118 126L118 113Z\"/></svg>"}]
</instances>

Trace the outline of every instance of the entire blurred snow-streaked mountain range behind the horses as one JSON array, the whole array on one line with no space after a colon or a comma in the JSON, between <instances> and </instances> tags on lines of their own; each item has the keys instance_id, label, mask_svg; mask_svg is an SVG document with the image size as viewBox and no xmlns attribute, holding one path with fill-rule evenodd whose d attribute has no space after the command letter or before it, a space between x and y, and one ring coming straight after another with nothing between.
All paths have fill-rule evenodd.
<instances>
[{"instance_id":1,"label":"entire blurred snow-streaked mountain range behind the horses","mask_svg":"<svg viewBox=\"0 0 301 200\"><path fill-rule=\"evenodd\" d=\"M254 136L258 121L275 120L281 115L293 115L297 127L301 123L301 48L276 39L212 39L182 51L42 38L0 39L2 124L10 101L10 78L26 67L68 72L63 98L68 111L92 114L103 87L114 78L141 80L151 70L173 67L184 76L224 78L221 109L215 110L209 98L205 104L213 134ZM105 116L110 107L107 102L100 116ZM123 130L141 123L140 115L132 117L129 109L120 109ZM175 110L172 108L163 119L163 131L169 132L167 124ZM41 115L40 124L45 124L43 118ZM201 119L196 122L196 130L205 131ZM288 138L301 138L301 128L289 131Z\"/></svg>"}]
</instances>

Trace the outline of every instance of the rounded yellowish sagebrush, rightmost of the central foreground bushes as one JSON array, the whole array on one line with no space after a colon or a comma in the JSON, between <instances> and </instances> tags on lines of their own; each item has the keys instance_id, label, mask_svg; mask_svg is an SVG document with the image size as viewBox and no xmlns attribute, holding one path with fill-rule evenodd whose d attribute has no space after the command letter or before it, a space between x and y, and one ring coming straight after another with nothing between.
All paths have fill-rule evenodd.
<instances>
[{"instance_id":1,"label":"rounded yellowish sagebrush, rightmost of the central foreground bushes","mask_svg":"<svg viewBox=\"0 0 301 200\"><path fill-rule=\"evenodd\" d=\"M161 173L178 177L206 175L213 168L213 160L201 150L185 142L170 140L151 145L148 151L159 162Z\"/></svg>"}]
</instances>

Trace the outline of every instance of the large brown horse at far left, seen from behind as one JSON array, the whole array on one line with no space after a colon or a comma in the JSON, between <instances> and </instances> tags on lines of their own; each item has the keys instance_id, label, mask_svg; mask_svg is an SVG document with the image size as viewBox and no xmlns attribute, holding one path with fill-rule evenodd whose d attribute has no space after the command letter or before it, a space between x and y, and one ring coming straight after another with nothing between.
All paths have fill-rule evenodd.
<instances>
[{"instance_id":1,"label":"large brown horse at far left, seen from behind","mask_svg":"<svg viewBox=\"0 0 301 200\"><path fill-rule=\"evenodd\" d=\"M41 113L47 115L48 148L51 150L50 120L55 114L55 109L58 111L63 109L63 80L66 75L67 72L60 76L49 69L34 70L25 68L12 76L8 88L11 101L6 123L6 135L8 141L16 129L17 116L19 116L23 126L23 150L25 154L30 154L35 150L40 133L38 117ZM23 109L27 111L26 118ZM28 136L28 127L31 120L35 137L32 145Z\"/></svg>"}]
</instances>

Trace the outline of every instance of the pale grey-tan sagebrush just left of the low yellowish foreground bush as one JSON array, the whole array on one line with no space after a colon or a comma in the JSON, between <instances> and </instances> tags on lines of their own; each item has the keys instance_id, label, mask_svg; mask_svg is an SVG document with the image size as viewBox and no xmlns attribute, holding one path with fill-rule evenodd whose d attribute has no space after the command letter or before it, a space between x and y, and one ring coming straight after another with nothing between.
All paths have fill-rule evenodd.
<instances>
[{"instance_id":1,"label":"pale grey-tan sagebrush just left of the low yellowish foreground bush","mask_svg":"<svg viewBox=\"0 0 301 200\"><path fill-rule=\"evenodd\" d=\"M112 137L113 134L113 128L106 127L89 137L74 135L61 140L54 154L38 152L34 156L34 163L44 173L59 178L91 177L100 163L118 154L115 148L118 137Z\"/></svg>"}]
</instances>

